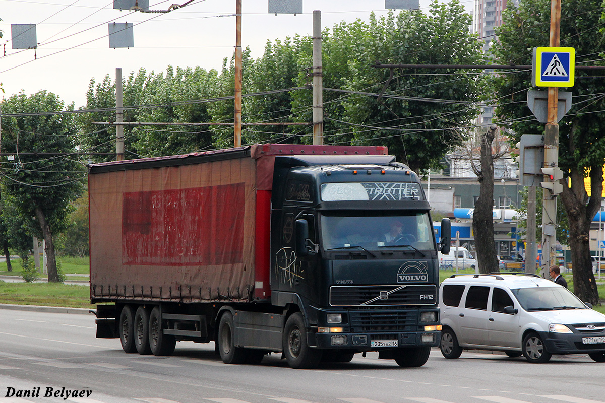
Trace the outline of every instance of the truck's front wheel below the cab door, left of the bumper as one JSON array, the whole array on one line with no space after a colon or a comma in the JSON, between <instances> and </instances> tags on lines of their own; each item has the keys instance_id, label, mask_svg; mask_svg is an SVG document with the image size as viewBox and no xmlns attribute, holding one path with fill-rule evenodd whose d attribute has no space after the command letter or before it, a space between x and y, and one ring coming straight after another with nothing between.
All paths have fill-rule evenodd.
<instances>
[{"instance_id":1,"label":"truck's front wheel below the cab door, left of the bumper","mask_svg":"<svg viewBox=\"0 0 605 403\"><path fill-rule=\"evenodd\" d=\"M283 342L284 355L290 367L311 369L319 365L321 350L312 349L307 344L307 330L300 312L296 312L286 321Z\"/></svg>"}]
</instances>

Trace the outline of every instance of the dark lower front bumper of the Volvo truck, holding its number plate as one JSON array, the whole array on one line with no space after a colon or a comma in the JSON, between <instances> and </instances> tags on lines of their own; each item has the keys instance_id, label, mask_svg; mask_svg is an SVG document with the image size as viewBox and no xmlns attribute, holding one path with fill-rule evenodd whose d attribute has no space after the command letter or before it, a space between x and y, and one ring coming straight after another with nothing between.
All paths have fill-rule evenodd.
<instances>
[{"instance_id":1,"label":"dark lower front bumper of the Volvo truck, holding its number plate","mask_svg":"<svg viewBox=\"0 0 605 403\"><path fill-rule=\"evenodd\" d=\"M440 331L399 334L315 334L315 346L319 349L356 349L359 351L380 351L393 347L436 347L439 346L440 340Z\"/></svg>"}]
</instances>

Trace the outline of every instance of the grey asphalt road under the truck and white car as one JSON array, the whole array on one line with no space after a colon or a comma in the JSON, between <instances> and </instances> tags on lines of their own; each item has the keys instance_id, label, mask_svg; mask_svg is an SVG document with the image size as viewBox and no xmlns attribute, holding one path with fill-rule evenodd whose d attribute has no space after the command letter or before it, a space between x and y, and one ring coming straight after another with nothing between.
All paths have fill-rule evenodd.
<instances>
[{"instance_id":1,"label":"grey asphalt road under the truck and white car","mask_svg":"<svg viewBox=\"0 0 605 403\"><path fill-rule=\"evenodd\" d=\"M170 357L125 354L119 340L95 338L91 314L0 309L0 403L594 403L605 402L604 375L587 355L529 364L477 352L448 360L437 349L414 369L375 353L316 370L290 369L279 354L232 366L212 343L180 342Z\"/></svg>"}]
</instances>

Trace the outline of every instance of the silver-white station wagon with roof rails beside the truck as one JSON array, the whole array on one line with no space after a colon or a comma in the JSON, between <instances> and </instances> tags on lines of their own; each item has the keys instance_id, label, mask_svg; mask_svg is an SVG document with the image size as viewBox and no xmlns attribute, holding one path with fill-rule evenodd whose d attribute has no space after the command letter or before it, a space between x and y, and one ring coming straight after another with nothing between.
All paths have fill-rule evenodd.
<instances>
[{"instance_id":1,"label":"silver-white station wagon with roof rails beside the truck","mask_svg":"<svg viewBox=\"0 0 605 403\"><path fill-rule=\"evenodd\" d=\"M553 354L588 354L605 363L605 315L535 274L454 274L439 286L440 349L503 351L546 363Z\"/></svg>"}]
</instances>

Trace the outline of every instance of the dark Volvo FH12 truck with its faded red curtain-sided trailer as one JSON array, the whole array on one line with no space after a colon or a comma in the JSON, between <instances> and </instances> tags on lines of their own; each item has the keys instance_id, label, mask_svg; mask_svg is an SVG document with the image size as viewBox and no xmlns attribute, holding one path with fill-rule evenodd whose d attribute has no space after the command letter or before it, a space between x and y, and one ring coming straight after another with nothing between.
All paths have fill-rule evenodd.
<instances>
[{"instance_id":1,"label":"dark Volvo FH12 truck with its faded red curtain-sided trailer","mask_svg":"<svg viewBox=\"0 0 605 403\"><path fill-rule=\"evenodd\" d=\"M97 337L126 353L209 343L293 368L440 341L437 251L419 177L387 147L254 144L91 164Z\"/></svg>"}]
</instances>

